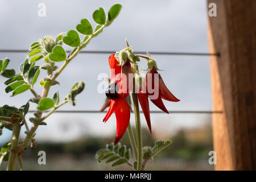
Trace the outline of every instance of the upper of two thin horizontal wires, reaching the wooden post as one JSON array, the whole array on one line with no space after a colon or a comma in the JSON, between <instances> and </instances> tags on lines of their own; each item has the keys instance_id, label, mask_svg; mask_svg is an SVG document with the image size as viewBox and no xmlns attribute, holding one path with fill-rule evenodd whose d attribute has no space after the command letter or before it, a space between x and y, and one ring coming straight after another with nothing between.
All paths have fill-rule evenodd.
<instances>
[{"instance_id":1,"label":"upper of two thin horizontal wires, reaching the wooden post","mask_svg":"<svg viewBox=\"0 0 256 182\"><path fill-rule=\"evenodd\" d=\"M28 50L25 49L0 49L0 52L12 52L12 53L27 53ZM71 51L67 51L71 52ZM202 53L202 52L157 52L148 51L152 55L184 55L184 56L220 56L220 53ZM115 51L80 51L80 53L115 53ZM135 54L146 54L143 51L134 51Z\"/></svg>"}]
</instances>

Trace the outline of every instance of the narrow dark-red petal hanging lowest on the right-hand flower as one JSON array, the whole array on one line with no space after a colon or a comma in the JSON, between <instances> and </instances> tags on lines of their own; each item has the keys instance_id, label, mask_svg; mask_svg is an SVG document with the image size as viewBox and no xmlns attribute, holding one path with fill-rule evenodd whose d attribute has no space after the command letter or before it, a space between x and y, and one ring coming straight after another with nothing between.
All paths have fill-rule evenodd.
<instances>
[{"instance_id":1,"label":"narrow dark-red petal hanging lowest on the right-hand flower","mask_svg":"<svg viewBox=\"0 0 256 182\"><path fill-rule=\"evenodd\" d=\"M146 118L146 121L147 121L148 129L150 130L150 133L151 133L150 109L149 109L147 94L140 92L138 94L138 98L139 98L139 104L141 104L144 117Z\"/></svg>"}]
</instances>

